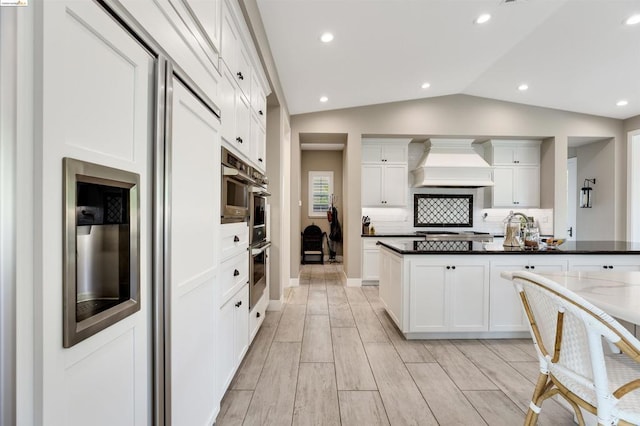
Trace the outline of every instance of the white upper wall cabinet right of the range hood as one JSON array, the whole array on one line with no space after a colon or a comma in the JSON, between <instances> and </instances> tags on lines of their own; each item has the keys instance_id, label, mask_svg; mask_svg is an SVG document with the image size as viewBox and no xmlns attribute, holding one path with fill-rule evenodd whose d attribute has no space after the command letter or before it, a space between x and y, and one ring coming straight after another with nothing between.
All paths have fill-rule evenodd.
<instances>
[{"instance_id":1,"label":"white upper wall cabinet right of the range hood","mask_svg":"<svg viewBox=\"0 0 640 426\"><path fill-rule=\"evenodd\" d=\"M540 207L539 141L489 141L485 157L494 166L491 207Z\"/></svg>"}]
</instances>

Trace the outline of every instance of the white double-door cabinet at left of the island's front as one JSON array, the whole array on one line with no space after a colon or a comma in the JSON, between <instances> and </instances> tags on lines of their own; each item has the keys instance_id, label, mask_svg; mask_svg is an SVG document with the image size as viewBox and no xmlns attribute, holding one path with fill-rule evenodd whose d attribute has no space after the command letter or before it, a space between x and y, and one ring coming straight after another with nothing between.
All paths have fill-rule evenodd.
<instances>
[{"instance_id":1,"label":"white double-door cabinet at left of the island's front","mask_svg":"<svg viewBox=\"0 0 640 426\"><path fill-rule=\"evenodd\" d=\"M410 271L409 332L488 330L488 261L413 258Z\"/></svg>"}]
</instances>

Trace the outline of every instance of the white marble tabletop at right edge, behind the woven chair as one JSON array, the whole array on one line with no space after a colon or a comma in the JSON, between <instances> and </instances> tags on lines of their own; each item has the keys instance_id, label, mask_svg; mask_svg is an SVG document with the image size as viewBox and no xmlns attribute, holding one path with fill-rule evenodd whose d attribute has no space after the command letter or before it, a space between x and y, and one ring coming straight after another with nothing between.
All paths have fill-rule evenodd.
<instances>
[{"instance_id":1,"label":"white marble tabletop at right edge, behind the woven chair","mask_svg":"<svg viewBox=\"0 0 640 426\"><path fill-rule=\"evenodd\" d=\"M512 272L502 272L511 280ZM539 273L584 297L609 315L640 325L640 272Z\"/></svg>"}]
</instances>

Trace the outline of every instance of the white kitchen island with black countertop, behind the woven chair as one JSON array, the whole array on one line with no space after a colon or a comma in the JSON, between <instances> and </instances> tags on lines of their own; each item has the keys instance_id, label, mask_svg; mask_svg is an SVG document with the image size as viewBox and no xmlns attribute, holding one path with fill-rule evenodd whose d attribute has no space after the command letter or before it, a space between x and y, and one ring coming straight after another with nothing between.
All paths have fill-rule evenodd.
<instances>
[{"instance_id":1,"label":"white kitchen island with black countertop, behind the woven chair","mask_svg":"<svg viewBox=\"0 0 640 426\"><path fill-rule=\"evenodd\" d=\"M379 242L380 299L407 339L528 337L504 271L640 271L640 244L522 250L474 241Z\"/></svg>"}]
</instances>

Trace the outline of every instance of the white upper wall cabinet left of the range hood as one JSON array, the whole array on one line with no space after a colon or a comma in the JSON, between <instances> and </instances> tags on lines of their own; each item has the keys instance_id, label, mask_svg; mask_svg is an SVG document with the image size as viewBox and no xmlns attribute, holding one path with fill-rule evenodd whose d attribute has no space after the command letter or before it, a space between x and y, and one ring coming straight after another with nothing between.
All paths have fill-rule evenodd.
<instances>
[{"instance_id":1,"label":"white upper wall cabinet left of the range hood","mask_svg":"<svg viewBox=\"0 0 640 426\"><path fill-rule=\"evenodd\" d=\"M362 141L362 206L404 207L409 180L409 139Z\"/></svg>"}]
</instances>

